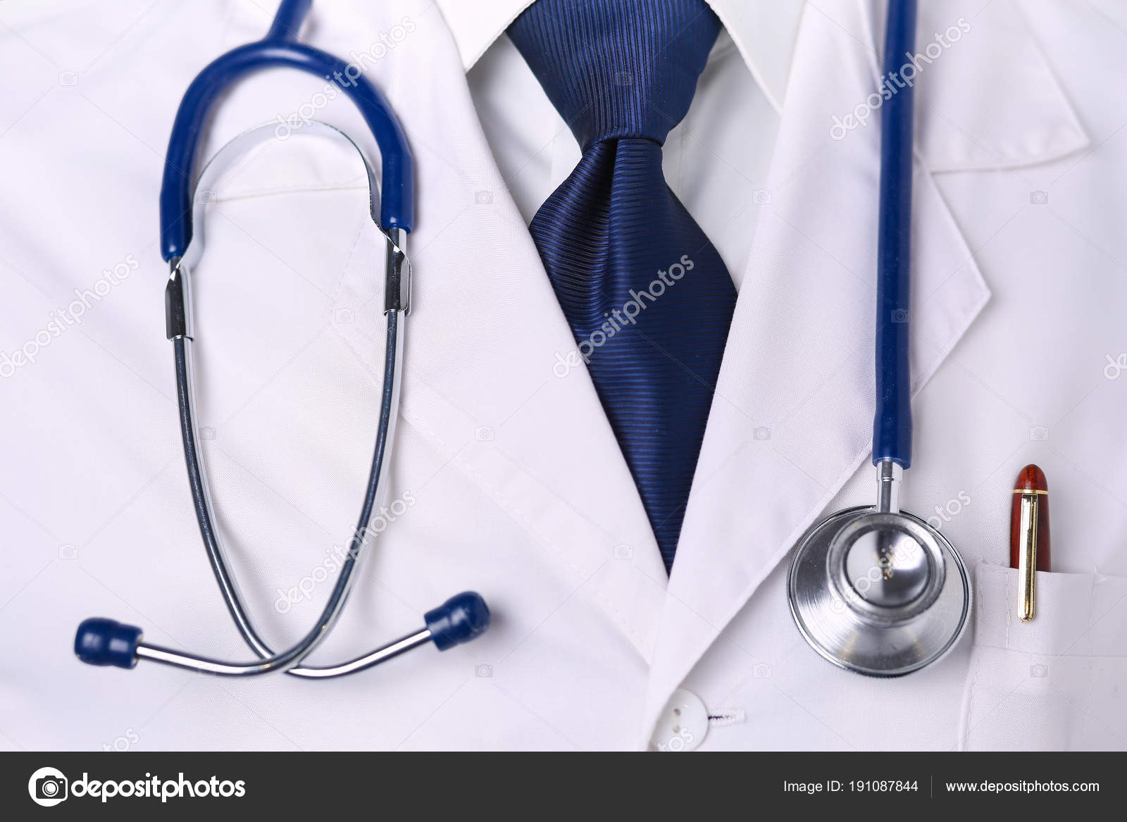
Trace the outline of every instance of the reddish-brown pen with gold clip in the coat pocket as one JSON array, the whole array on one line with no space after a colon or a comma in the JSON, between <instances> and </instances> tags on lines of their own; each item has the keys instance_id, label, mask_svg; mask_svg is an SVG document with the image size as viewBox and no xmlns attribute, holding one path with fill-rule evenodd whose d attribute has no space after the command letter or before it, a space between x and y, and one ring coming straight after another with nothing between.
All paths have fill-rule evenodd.
<instances>
[{"instance_id":1,"label":"reddish-brown pen with gold clip in the coat pocket","mask_svg":"<svg viewBox=\"0 0 1127 822\"><path fill-rule=\"evenodd\" d=\"M1045 471L1033 465L1018 474L1010 506L1010 567L1018 569L1018 611L1033 618L1038 571L1051 571L1049 488Z\"/></svg>"}]
</instances>

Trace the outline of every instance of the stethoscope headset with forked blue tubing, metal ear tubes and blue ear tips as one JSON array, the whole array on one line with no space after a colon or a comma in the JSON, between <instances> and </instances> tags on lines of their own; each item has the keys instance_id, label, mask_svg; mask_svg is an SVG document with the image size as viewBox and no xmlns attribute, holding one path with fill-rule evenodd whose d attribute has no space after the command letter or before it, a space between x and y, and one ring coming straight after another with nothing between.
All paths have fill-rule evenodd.
<instances>
[{"instance_id":1,"label":"stethoscope headset with forked blue tubing, metal ear tubes and blue ear tips","mask_svg":"<svg viewBox=\"0 0 1127 822\"><path fill-rule=\"evenodd\" d=\"M199 179L193 185L192 170L204 133L205 120L220 94L252 71L266 68L300 69L330 80L340 77L348 64L338 58L296 42L298 30L309 12L312 0L283 0L266 37L239 46L222 55L193 80L180 101L172 124L165 177L160 192L161 255L169 264L170 275L165 292L167 336L172 341L176 362L176 389L179 405L180 434L192 486L192 501L199 532L207 550L212 571L220 592L239 633L259 657L252 662L224 662L196 654L187 654L152 645L143 640L141 629L122 625L112 619L85 620L74 637L74 653L91 665L134 668L139 660L151 660L205 673L247 677L285 671L296 677L326 679L343 677L385 662L411 648L434 643L445 651L480 636L489 627L489 609L485 600L473 592L452 596L442 606L427 611L425 627L374 651L337 665L314 668L302 661L328 636L336 625L355 580L358 560L371 541L369 523L387 495L385 470L394 440L394 424L399 414L399 385L402 371L403 321L410 299L410 265L403 253L406 235L410 232L415 211L414 161L407 139L394 113L383 96L364 77L357 77L343 90L360 108L380 147L383 193L380 195L372 169L367 169L371 193L372 220L387 245L384 317L387 319L387 348L383 365L383 386L380 401L380 423L376 428L372 469L364 492L356 530L341 560L340 573L329 594L317 624L293 647L274 652L255 628L238 585L230 572L208 492L204 463L199 453L199 434L194 412L194 378L192 368L192 290L189 262L193 236L193 209L198 206L196 192L204 191L201 183L210 170L218 168L220 154L241 151L247 144L273 132L273 124L251 130L225 145L207 163ZM355 73L355 72L354 72ZM349 79L350 76L349 76ZM325 124L303 129L310 133L329 134L345 139ZM350 141L348 141L352 144ZM355 145L353 145L356 149ZM360 149L356 149L360 153ZM360 154L363 158L363 154ZM379 215L376 215L379 203ZM198 245L198 244L197 244Z\"/></svg>"}]
</instances>

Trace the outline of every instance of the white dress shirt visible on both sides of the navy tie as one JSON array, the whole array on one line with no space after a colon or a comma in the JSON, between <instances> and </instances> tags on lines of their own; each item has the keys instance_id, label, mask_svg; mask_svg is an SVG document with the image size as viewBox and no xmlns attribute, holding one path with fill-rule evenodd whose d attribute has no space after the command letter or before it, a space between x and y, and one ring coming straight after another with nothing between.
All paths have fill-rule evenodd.
<instances>
[{"instance_id":1,"label":"white dress shirt visible on both sides of the navy tie","mask_svg":"<svg viewBox=\"0 0 1127 822\"><path fill-rule=\"evenodd\" d=\"M465 14L465 3L440 6L462 51L494 159L529 222L580 157L567 124L504 34L529 1L474 5L472 15ZM715 9L726 28L709 54L689 113L665 141L663 168L738 286L758 213L771 202L765 180L781 103L772 91L784 94L782 83L772 90L755 71L766 64L775 76L787 76L801 6L721 0Z\"/></svg>"}]
</instances>

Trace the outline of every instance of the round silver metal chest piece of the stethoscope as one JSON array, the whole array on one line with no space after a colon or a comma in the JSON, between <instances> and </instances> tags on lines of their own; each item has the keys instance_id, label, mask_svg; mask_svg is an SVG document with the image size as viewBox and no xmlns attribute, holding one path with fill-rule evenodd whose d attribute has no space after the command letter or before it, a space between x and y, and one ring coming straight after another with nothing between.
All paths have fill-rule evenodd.
<instances>
[{"instance_id":1,"label":"round silver metal chest piece of the stethoscope","mask_svg":"<svg viewBox=\"0 0 1127 822\"><path fill-rule=\"evenodd\" d=\"M811 528L788 580L790 610L810 646L870 677L937 661L962 634L970 584L958 551L903 511L853 507Z\"/></svg>"}]
</instances>

